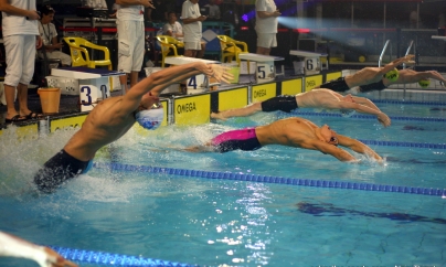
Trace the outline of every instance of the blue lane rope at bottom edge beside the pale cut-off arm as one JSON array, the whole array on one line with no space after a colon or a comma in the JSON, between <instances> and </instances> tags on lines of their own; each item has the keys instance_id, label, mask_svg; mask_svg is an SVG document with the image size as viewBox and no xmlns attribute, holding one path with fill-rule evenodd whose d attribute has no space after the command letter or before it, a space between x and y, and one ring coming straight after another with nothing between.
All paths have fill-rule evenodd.
<instances>
[{"instance_id":1,"label":"blue lane rope at bottom edge beside the pale cut-off arm","mask_svg":"<svg viewBox=\"0 0 446 267\"><path fill-rule=\"evenodd\" d=\"M85 264L109 265L109 266L126 266L126 267L197 267L198 265L172 263L162 259L142 258L136 256L127 256L120 254L91 252L84 249L75 249L67 247L49 246L51 249L59 253L64 258Z\"/></svg>"}]
</instances>

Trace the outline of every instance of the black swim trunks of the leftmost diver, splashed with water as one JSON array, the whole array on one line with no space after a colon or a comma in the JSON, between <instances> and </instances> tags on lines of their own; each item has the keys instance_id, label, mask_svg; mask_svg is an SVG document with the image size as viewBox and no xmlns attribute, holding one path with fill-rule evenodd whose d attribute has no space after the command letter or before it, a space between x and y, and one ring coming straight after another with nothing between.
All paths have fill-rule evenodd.
<instances>
[{"instance_id":1,"label":"black swim trunks of the leftmost diver, splashed with water","mask_svg":"<svg viewBox=\"0 0 446 267\"><path fill-rule=\"evenodd\" d=\"M79 161L61 150L43 165L34 177L34 183L43 193L54 192L64 181L86 173L92 161Z\"/></svg>"}]
</instances>

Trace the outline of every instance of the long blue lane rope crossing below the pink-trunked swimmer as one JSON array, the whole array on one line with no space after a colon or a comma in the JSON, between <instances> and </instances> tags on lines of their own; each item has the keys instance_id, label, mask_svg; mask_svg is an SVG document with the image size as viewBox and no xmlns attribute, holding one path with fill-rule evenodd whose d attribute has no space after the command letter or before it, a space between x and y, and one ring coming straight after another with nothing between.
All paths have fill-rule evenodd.
<instances>
[{"instance_id":1,"label":"long blue lane rope crossing below the pink-trunked swimmer","mask_svg":"<svg viewBox=\"0 0 446 267\"><path fill-rule=\"evenodd\" d=\"M119 171L166 173L166 174L172 174L172 175L197 177L197 178L206 178L206 179L223 179L223 180L263 182L263 183L280 183L280 184L288 184L288 185L300 185L300 186L348 189L348 190L361 190L361 191L380 191L380 192L393 192L393 193L406 193L406 194L423 194L423 195L446 197L446 189L442 190L442 189L413 188L413 186L404 186L404 185L353 183L353 182L297 179L297 178L284 178L284 177L258 175L258 174L243 174L243 173L219 172L219 171L199 171L199 170L187 170L187 169L151 167L151 165L132 165L132 164L121 164L121 163L95 162L93 165L97 169L109 169L109 170L119 170Z\"/></svg>"}]
</instances>

